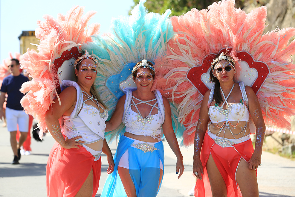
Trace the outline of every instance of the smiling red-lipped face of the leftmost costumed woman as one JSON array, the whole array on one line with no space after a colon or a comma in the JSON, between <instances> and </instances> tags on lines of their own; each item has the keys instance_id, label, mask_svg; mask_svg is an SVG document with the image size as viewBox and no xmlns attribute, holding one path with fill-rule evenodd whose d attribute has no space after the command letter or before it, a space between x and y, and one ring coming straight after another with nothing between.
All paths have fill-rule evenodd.
<instances>
[{"instance_id":1,"label":"smiling red-lipped face of the leftmost costumed woman","mask_svg":"<svg viewBox=\"0 0 295 197\"><path fill-rule=\"evenodd\" d=\"M78 70L79 69L79 70ZM96 65L92 59L84 59L75 69L78 84L92 85L97 74Z\"/></svg>"}]
</instances>

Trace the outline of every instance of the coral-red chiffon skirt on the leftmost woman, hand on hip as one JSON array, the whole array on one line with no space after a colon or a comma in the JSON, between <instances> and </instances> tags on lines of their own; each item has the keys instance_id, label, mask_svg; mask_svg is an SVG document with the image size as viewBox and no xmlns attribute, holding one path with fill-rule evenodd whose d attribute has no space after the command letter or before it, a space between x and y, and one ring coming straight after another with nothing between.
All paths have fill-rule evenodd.
<instances>
[{"instance_id":1,"label":"coral-red chiffon skirt on the leftmost woman, hand on hip","mask_svg":"<svg viewBox=\"0 0 295 197\"><path fill-rule=\"evenodd\" d=\"M82 146L62 148L57 142L51 149L46 166L46 188L48 197L72 197L93 170L94 197L100 180L101 158L94 157Z\"/></svg>"}]
</instances>

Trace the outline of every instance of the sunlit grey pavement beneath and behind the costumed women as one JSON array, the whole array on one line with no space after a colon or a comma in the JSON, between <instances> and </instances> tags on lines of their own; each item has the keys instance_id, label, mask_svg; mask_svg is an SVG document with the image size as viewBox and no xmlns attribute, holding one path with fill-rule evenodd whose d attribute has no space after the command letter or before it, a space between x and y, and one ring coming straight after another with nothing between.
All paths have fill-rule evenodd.
<instances>
[{"instance_id":1,"label":"sunlit grey pavement beneath and behind the costumed women","mask_svg":"<svg viewBox=\"0 0 295 197\"><path fill-rule=\"evenodd\" d=\"M31 140L31 155L22 155L20 165L11 165L13 153L10 147L10 135L7 128L2 128L0 121L0 197L45 197L46 196L46 162L54 144L54 139L48 133L42 142ZM116 142L110 145L113 153ZM188 196L189 190L195 184L192 175L193 147L181 148L184 156L185 172L180 179L175 170L176 157L164 141L165 161L164 178L158 197ZM100 196L107 174L106 155L102 155ZM262 153L262 166L258 169L259 196L290 197L295 196L295 161L268 152Z\"/></svg>"}]
</instances>

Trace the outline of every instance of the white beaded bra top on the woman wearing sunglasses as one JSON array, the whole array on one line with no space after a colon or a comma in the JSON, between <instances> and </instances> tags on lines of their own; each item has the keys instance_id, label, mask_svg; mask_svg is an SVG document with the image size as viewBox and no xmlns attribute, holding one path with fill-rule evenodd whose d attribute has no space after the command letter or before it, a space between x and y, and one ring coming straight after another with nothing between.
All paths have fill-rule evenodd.
<instances>
[{"instance_id":1,"label":"white beaded bra top on the woman wearing sunglasses","mask_svg":"<svg viewBox=\"0 0 295 197\"><path fill-rule=\"evenodd\" d=\"M242 97L243 100L240 100L240 103L233 103L233 104L229 104L227 102L227 99L225 98L225 102L222 104L222 106L210 106L209 107L209 116L210 116L210 120L213 123L218 123L218 122L225 122L225 121L236 121L236 122L240 122L240 121L248 121L249 120L249 111L247 109L247 104L245 101L247 101L247 95L244 93L245 89L244 89L244 85L240 84L240 89L242 92ZM211 93L213 95L214 89L211 90ZM210 93L210 98L209 98L209 104L212 101L212 97L211 97L211 93ZM228 94L229 96L230 94ZM224 104L227 104L227 109L223 109Z\"/></svg>"}]
</instances>

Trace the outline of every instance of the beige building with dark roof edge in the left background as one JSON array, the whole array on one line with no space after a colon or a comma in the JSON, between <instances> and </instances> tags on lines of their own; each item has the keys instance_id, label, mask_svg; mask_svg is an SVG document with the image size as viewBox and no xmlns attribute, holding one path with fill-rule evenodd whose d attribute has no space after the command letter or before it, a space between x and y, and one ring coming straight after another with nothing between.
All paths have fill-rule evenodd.
<instances>
[{"instance_id":1,"label":"beige building with dark roof edge in the left background","mask_svg":"<svg viewBox=\"0 0 295 197\"><path fill-rule=\"evenodd\" d=\"M29 48L30 50L37 50L37 46L31 45L31 43L39 45L39 40L35 36L35 31L22 31L22 34L19 35L19 52L21 55L27 52L27 48Z\"/></svg>"}]
</instances>

